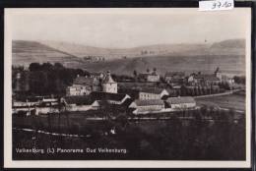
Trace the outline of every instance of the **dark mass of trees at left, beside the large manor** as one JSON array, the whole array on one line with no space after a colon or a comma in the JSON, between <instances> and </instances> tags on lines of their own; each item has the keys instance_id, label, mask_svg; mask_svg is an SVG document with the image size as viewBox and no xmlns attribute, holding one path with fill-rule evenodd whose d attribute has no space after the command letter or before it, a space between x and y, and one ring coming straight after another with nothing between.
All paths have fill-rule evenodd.
<instances>
[{"instance_id":1,"label":"dark mass of trees at left, beside the large manor","mask_svg":"<svg viewBox=\"0 0 256 171\"><path fill-rule=\"evenodd\" d=\"M12 70L13 88L17 89L18 84L28 85L29 89L19 89L27 95L65 94L66 87L72 85L78 75L90 75L82 69L65 68L60 63L32 63L29 71L24 67L13 67ZM18 73L21 75L20 79L16 77Z\"/></svg>"}]
</instances>

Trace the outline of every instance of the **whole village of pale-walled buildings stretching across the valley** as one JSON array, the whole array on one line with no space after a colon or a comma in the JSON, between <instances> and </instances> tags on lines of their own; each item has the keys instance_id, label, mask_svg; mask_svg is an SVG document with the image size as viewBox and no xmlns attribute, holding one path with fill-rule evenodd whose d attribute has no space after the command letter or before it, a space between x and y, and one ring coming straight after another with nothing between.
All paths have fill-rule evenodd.
<instances>
[{"instance_id":1,"label":"whole village of pale-walled buildings stretching across the valley","mask_svg":"<svg viewBox=\"0 0 256 171\"><path fill-rule=\"evenodd\" d=\"M17 86L21 79L16 76ZM133 80L116 81L110 71L80 76L66 87L65 96L34 96L13 100L13 114L40 115L59 112L96 111L108 105L133 115L173 113L200 108L195 97L218 95L235 90L234 80L219 67L212 74L166 72L157 69L134 74ZM18 88L19 89L19 88ZM105 111L107 112L107 111Z\"/></svg>"}]
</instances>

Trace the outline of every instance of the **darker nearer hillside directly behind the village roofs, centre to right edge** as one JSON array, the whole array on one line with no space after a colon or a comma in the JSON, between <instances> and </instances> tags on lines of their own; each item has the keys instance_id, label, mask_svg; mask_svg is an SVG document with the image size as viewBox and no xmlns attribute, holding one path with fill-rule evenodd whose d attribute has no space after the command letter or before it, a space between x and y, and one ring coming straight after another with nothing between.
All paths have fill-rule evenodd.
<instances>
[{"instance_id":1,"label":"darker nearer hillside directly behind the village roofs, centre to right edge","mask_svg":"<svg viewBox=\"0 0 256 171\"><path fill-rule=\"evenodd\" d=\"M114 74L133 75L136 70L146 73L147 69L157 68L161 75L167 71L182 71L187 74L193 72L213 72L220 67L224 73L231 75L244 74L244 56L161 56L132 59L116 59L104 63L85 63L83 69L93 72L110 70ZM231 64L231 65L230 65Z\"/></svg>"}]
</instances>

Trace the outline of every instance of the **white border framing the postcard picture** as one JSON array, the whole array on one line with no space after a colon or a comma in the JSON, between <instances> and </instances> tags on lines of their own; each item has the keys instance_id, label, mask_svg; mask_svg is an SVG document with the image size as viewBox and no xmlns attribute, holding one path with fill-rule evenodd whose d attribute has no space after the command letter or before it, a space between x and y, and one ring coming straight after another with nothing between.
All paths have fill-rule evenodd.
<instances>
[{"instance_id":1,"label":"white border framing the postcard picture","mask_svg":"<svg viewBox=\"0 0 256 171\"><path fill-rule=\"evenodd\" d=\"M242 9L242 8L241 8ZM76 13L170 13L160 8L75 9ZM185 13L197 10L187 8ZM234 9L238 10L238 9ZM167 160L13 160L12 159L12 17L19 13L73 13L74 9L5 9L4 39L4 167L5 168L248 168L251 166L251 9L248 8L246 37L246 161L167 161ZM203 15L204 12L202 12Z\"/></svg>"}]
</instances>

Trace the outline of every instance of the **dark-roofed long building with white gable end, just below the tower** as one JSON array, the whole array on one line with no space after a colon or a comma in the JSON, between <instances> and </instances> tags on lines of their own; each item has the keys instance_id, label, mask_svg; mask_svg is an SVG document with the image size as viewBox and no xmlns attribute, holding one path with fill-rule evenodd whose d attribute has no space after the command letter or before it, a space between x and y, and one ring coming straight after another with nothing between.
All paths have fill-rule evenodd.
<instances>
[{"instance_id":1,"label":"dark-roofed long building with white gable end, just below the tower","mask_svg":"<svg viewBox=\"0 0 256 171\"><path fill-rule=\"evenodd\" d=\"M107 101L110 104L122 104L126 99L131 98L125 93L111 93L103 91L94 91L90 96L94 100Z\"/></svg>"}]
</instances>

